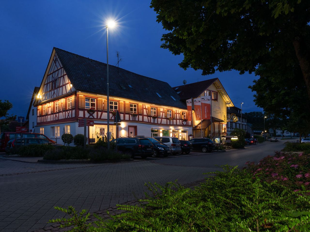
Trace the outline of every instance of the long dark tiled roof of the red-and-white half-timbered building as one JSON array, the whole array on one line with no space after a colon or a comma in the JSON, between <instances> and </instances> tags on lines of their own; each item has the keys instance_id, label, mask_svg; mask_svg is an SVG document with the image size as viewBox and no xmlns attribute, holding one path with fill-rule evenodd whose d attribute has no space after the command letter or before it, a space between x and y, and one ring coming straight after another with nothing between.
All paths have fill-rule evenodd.
<instances>
[{"instance_id":1,"label":"long dark tiled roof of the red-and-white half-timbered building","mask_svg":"<svg viewBox=\"0 0 310 232\"><path fill-rule=\"evenodd\" d=\"M59 48L54 49L75 89L107 94L107 64ZM122 86L126 89L123 89ZM158 97L156 92L162 98ZM109 65L109 95L186 108L185 103L179 100L178 94L167 82L142 76L113 65ZM176 101L170 96L174 97Z\"/></svg>"}]
</instances>

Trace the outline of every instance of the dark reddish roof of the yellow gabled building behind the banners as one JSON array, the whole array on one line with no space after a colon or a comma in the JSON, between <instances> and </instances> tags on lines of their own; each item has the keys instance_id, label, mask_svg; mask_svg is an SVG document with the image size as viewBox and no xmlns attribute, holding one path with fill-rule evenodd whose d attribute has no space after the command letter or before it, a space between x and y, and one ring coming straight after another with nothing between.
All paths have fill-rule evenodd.
<instances>
[{"instance_id":1,"label":"dark reddish roof of the yellow gabled building behind the banners","mask_svg":"<svg viewBox=\"0 0 310 232\"><path fill-rule=\"evenodd\" d=\"M211 84L213 84L217 78L203 80L199 82L194 82L192 84L185 84L180 86L175 86L173 89L179 92L181 100L189 99L191 97L199 97L200 94L205 91Z\"/></svg>"}]
</instances>

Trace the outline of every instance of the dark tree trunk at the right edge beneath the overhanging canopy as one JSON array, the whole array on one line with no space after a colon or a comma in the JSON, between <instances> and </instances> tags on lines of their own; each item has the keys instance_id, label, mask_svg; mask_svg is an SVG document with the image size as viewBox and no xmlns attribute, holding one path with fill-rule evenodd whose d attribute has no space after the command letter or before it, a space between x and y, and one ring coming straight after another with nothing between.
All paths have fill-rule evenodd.
<instances>
[{"instance_id":1,"label":"dark tree trunk at the right edge beneath the overhanging canopy","mask_svg":"<svg viewBox=\"0 0 310 232\"><path fill-rule=\"evenodd\" d=\"M295 37L293 45L310 99L310 52L302 36Z\"/></svg>"}]
</instances>

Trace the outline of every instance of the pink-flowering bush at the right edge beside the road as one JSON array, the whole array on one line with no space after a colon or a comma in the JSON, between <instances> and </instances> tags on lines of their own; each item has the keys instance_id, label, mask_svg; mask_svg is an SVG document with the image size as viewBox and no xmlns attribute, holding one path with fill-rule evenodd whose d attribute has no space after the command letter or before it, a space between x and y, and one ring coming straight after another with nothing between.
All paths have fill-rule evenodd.
<instances>
[{"instance_id":1,"label":"pink-flowering bush at the right edge beside the road","mask_svg":"<svg viewBox=\"0 0 310 232\"><path fill-rule=\"evenodd\" d=\"M274 156L268 156L260 160L259 164L247 162L246 169L253 174L253 178L259 177L267 182L277 180L294 191L299 191L303 186L310 190L310 154L276 152Z\"/></svg>"}]
</instances>

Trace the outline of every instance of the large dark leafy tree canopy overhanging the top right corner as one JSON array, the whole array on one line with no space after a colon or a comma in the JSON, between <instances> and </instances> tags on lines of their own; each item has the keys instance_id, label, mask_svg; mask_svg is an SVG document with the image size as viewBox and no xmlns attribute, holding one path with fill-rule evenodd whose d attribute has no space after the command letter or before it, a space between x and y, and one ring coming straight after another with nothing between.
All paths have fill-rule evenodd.
<instances>
[{"instance_id":1,"label":"large dark leafy tree canopy overhanging the top right corner","mask_svg":"<svg viewBox=\"0 0 310 232\"><path fill-rule=\"evenodd\" d=\"M184 55L180 67L202 75L232 69L251 73L294 51L299 81L310 97L310 1L152 0L151 7L170 31L162 35L161 47Z\"/></svg>"}]
</instances>

